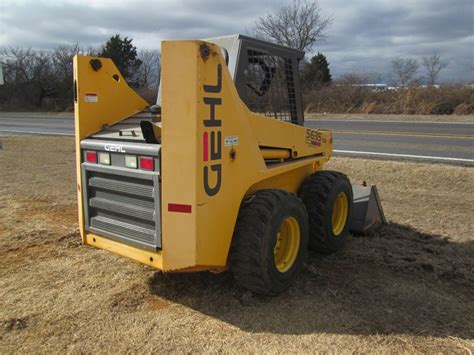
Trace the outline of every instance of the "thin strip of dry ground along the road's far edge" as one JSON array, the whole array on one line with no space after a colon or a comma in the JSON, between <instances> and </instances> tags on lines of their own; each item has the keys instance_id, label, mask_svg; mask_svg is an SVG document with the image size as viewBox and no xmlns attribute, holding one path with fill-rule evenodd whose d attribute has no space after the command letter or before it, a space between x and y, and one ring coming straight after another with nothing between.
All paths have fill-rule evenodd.
<instances>
[{"instance_id":1,"label":"thin strip of dry ground along the road's far edge","mask_svg":"<svg viewBox=\"0 0 474 355\"><path fill-rule=\"evenodd\" d=\"M310 120L379 120L379 121L428 121L428 122L463 122L474 123L474 115L393 115L375 113L306 113Z\"/></svg>"}]
</instances>

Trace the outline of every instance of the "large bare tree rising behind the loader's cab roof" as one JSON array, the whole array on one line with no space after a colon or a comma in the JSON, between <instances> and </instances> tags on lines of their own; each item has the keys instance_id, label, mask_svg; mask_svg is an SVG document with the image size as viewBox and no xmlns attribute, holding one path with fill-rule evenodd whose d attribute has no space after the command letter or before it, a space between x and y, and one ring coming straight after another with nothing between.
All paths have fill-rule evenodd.
<instances>
[{"instance_id":1,"label":"large bare tree rising behind the loader's cab roof","mask_svg":"<svg viewBox=\"0 0 474 355\"><path fill-rule=\"evenodd\" d=\"M258 38L309 51L326 38L332 18L321 14L317 0L293 0L273 14L258 18L254 34Z\"/></svg>"}]
</instances>

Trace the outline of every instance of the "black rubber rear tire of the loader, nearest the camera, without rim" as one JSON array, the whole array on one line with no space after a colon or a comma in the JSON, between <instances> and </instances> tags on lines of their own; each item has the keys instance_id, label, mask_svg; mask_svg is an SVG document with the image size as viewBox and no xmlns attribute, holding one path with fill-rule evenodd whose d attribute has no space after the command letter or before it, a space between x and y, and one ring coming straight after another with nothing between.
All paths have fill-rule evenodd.
<instances>
[{"instance_id":1,"label":"black rubber rear tire of the loader, nearest the camera, without rim","mask_svg":"<svg viewBox=\"0 0 474 355\"><path fill-rule=\"evenodd\" d=\"M300 245L286 272L276 268L276 234L287 217L300 227ZM258 191L244 202L234 230L229 254L230 270L237 283L255 293L278 295L291 286L301 271L308 249L308 215L301 200L282 190Z\"/></svg>"}]
</instances>

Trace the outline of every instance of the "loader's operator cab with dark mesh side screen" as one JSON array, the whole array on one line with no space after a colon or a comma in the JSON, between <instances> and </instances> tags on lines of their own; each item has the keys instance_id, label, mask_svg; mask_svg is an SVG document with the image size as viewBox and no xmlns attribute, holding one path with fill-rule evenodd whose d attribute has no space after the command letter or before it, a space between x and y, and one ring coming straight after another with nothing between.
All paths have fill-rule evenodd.
<instances>
[{"instance_id":1,"label":"loader's operator cab with dark mesh side screen","mask_svg":"<svg viewBox=\"0 0 474 355\"><path fill-rule=\"evenodd\" d=\"M240 34L203 41L221 48L237 92L250 111L304 124L298 69L304 52Z\"/></svg>"}]
</instances>

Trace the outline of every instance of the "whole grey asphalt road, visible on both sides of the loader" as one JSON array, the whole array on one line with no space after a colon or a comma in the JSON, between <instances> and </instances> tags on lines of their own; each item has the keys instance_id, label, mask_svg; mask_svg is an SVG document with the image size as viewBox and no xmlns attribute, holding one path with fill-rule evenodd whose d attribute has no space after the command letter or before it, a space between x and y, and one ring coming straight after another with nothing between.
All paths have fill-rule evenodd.
<instances>
[{"instance_id":1,"label":"whole grey asphalt road, visible on both sides of the loader","mask_svg":"<svg viewBox=\"0 0 474 355\"><path fill-rule=\"evenodd\" d=\"M474 166L474 123L307 120L332 129L338 155L443 161ZM73 135L72 114L0 113L0 134Z\"/></svg>"}]
</instances>

